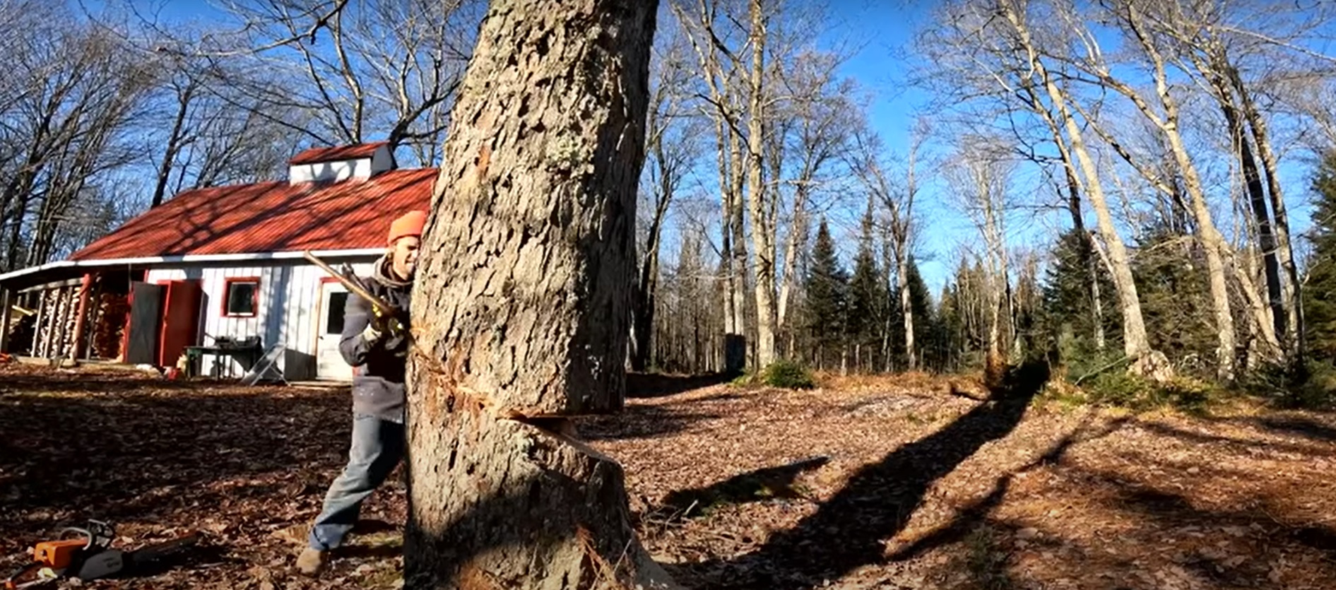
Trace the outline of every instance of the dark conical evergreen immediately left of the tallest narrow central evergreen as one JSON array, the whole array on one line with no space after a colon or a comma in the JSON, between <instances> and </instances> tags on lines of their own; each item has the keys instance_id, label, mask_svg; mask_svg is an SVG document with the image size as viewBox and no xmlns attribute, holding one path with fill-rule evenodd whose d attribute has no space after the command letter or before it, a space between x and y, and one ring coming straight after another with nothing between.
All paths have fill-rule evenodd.
<instances>
[{"instance_id":1,"label":"dark conical evergreen immediately left of the tallest narrow central evergreen","mask_svg":"<svg viewBox=\"0 0 1336 590\"><path fill-rule=\"evenodd\" d=\"M816 364L819 367L831 366L832 358L838 363L839 352L844 344L848 274L839 263L839 256L835 254L835 240L831 239L830 227L824 218L816 230L804 287L804 315L807 331L811 334L812 344L816 346Z\"/></svg>"}]
</instances>

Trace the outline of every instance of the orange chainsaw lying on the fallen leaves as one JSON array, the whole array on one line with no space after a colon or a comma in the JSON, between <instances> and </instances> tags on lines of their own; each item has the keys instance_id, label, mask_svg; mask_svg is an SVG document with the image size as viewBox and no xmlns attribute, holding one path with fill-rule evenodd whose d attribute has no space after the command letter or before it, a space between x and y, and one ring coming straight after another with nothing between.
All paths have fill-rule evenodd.
<instances>
[{"instance_id":1,"label":"orange chainsaw lying on the fallen leaves","mask_svg":"<svg viewBox=\"0 0 1336 590\"><path fill-rule=\"evenodd\" d=\"M76 537L68 537L76 533ZM102 521L88 521L87 527L65 527L56 541L43 541L32 547L32 563L5 578L4 590L17 590L60 578L87 582L132 571L138 566L195 545L198 533L150 545L134 551L111 549L115 529Z\"/></svg>"}]
</instances>

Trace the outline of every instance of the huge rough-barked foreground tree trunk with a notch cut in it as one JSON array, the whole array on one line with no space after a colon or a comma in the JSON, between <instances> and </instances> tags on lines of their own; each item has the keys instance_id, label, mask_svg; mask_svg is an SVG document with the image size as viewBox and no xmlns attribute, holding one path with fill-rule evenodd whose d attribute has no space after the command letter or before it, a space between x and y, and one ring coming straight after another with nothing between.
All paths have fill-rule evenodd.
<instances>
[{"instance_id":1,"label":"huge rough-barked foreground tree trunk with a notch cut in it","mask_svg":"<svg viewBox=\"0 0 1336 590\"><path fill-rule=\"evenodd\" d=\"M494 0L452 113L413 291L407 589L672 587L621 467L656 3Z\"/></svg>"}]
</instances>

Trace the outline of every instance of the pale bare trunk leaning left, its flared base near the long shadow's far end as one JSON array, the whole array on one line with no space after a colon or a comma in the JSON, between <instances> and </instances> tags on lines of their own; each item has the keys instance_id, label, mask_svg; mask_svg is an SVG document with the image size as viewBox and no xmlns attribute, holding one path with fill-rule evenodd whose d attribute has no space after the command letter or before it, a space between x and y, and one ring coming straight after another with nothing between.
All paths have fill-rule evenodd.
<instances>
[{"instance_id":1,"label":"pale bare trunk leaning left, its flared base near the long shadow's far end","mask_svg":"<svg viewBox=\"0 0 1336 590\"><path fill-rule=\"evenodd\" d=\"M1096 226L1109 254L1113 286L1118 291L1118 302L1122 308L1124 352L1133 360L1132 370L1134 372L1154 378L1156 380L1168 380L1172 375L1169 362L1164 354L1150 350L1145 319L1141 315L1141 298L1137 294L1137 283L1132 276L1128 248L1113 224L1113 215L1109 214L1104 184L1100 182L1100 171L1096 167L1094 159L1090 158L1090 152L1086 150L1081 125L1071 116L1066 93L1058 88L1053 76L1045 68L1043 61L1039 60L1038 52L1030 40L1030 31L1025 21L1021 20L1021 15L1009 3L1001 3L1001 5L1003 7L1005 17L1021 36L1030 65L1034 68L1035 75L1039 76L1038 81L1043 84L1049 100L1053 101L1054 108L1058 111L1062 127L1067 132L1069 147L1075 155L1075 160L1081 166L1081 174L1086 180L1086 195L1090 198L1090 208L1094 210L1097 222Z\"/></svg>"}]
</instances>

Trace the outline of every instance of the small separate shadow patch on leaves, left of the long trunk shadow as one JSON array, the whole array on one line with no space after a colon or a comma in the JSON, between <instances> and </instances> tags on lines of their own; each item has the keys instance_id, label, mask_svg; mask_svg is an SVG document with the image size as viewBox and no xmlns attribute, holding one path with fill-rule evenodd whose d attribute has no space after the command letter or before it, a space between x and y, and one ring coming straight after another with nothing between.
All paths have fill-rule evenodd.
<instances>
[{"instance_id":1,"label":"small separate shadow patch on leaves, left of the long trunk shadow","mask_svg":"<svg viewBox=\"0 0 1336 590\"><path fill-rule=\"evenodd\" d=\"M664 498L660 510L667 510L677 518L689 518L707 514L723 505L771 498L803 498L807 494L796 486L798 477L826 463L830 463L830 457L814 457L778 467L747 471L705 487L677 490Z\"/></svg>"}]
</instances>

